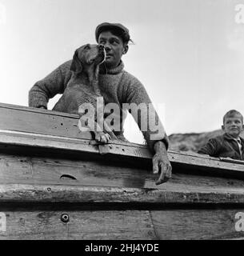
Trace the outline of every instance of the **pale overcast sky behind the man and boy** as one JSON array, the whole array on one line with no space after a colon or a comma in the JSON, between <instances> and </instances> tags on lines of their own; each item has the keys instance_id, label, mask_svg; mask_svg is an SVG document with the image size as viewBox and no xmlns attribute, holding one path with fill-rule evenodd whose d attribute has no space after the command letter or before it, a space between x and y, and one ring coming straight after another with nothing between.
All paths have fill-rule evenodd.
<instances>
[{"instance_id":1,"label":"pale overcast sky behind the man and boy","mask_svg":"<svg viewBox=\"0 0 244 256\"><path fill-rule=\"evenodd\" d=\"M244 0L0 0L0 102L27 106L34 82L94 43L99 23L121 22L134 40L125 69L165 106L167 134L216 130L227 110L244 114L238 4L244 8ZM126 127L141 142L129 120Z\"/></svg>"}]
</instances>

